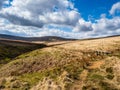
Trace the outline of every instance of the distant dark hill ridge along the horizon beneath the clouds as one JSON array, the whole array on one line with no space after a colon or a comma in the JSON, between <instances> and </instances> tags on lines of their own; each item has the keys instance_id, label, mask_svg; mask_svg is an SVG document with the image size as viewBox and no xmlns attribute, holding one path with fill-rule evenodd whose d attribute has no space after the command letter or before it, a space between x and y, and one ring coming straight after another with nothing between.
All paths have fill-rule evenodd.
<instances>
[{"instance_id":1,"label":"distant dark hill ridge along the horizon beneath the clouds","mask_svg":"<svg viewBox=\"0 0 120 90\"><path fill-rule=\"evenodd\" d=\"M0 34L0 38L2 39L11 39L11 40L24 40L24 41L67 41L67 40L75 40L75 39L67 39L57 36L44 36L44 37L19 37L12 35Z\"/></svg>"}]
</instances>

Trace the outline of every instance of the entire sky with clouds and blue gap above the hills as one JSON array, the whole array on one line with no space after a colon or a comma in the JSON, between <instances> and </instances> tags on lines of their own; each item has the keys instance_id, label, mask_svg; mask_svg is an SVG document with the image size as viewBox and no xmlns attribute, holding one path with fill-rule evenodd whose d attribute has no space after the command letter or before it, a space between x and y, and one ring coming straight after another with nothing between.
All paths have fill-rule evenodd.
<instances>
[{"instance_id":1,"label":"entire sky with clouds and blue gap above the hills","mask_svg":"<svg viewBox=\"0 0 120 90\"><path fill-rule=\"evenodd\" d=\"M66 38L120 35L120 0L0 0L0 34Z\"/></svg>"}]
</instances>

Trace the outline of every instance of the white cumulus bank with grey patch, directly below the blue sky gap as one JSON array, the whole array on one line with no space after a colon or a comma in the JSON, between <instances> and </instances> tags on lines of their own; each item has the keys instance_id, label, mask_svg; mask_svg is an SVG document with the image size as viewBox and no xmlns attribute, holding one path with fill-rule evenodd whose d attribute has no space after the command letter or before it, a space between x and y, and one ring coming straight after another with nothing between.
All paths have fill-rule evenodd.
<instances>
[{"instance_id":1,"label":"white cumulus bank with grey patch, directly below the blue sky gap","mask_svg":"<svg viewBox=\"0 0 120 90\"><path fill-rule=\"evenodd\" d=\"M120 17L108 19L102 15L95 23L80 19L77 26L73 29L73 32L79 33L79 36L84 38L119 35Z\"/></svg>"}]
</instances>

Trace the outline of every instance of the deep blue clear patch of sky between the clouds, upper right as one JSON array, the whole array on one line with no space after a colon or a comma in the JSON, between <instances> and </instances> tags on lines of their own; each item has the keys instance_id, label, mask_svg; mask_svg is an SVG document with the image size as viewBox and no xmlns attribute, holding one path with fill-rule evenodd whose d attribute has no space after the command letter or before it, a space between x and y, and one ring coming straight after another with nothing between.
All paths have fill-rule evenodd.
<instances>
[{"instance_id":1,"label":"deep blue clear patch of sky between the clouds, upper right","mask_svg":"<svg viewBox=\"0 0 120 90\"><path fill-rule=\"evenodd\" d=\"M101 14L106 14L108 18L111 18L109 10L112 5L120 0L74 0L75 8L81 13L81 16L88 20L89 16L94 19L100 18Z\"/></svg>"}]
</instances>

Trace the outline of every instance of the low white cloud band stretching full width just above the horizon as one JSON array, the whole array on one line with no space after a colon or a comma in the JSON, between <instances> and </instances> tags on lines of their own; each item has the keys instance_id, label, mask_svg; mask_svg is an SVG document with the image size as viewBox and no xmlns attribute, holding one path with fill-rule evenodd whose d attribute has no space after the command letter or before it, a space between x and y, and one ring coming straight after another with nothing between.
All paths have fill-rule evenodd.
<instances>
[{"instance_id":1,"label":"low white cloud band stretching full width just above the horizon","mask_svg":"<svg viewBox=\"0 0 120 90\"><path fill-rule=\"evenodd\" d=\"M77 31L68 32L57 28L37 28L32 26L20 26L14 25L8 22L5 19L0 18L0 33L18 35L18 36L61 36L67 38L91 38L91 37L101 37L109 35L118 35L120 34L120 17L114 17L113 19L101 18L96 21L96 23L86 22L83 19L79 20L79 25ZM92 27L91 30L81 30L83 26ZM79 26L78 25L78 26ZM58 25L59 26L59 25ZM61 25L61 27L63 27ZM64 26L65 27L65 26ZM76 30L74 27L72 27ZM72 30L71 28L71 30Z\"/></svg>"}]
</instances>

